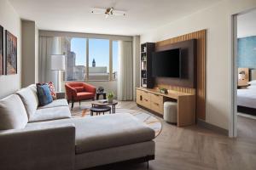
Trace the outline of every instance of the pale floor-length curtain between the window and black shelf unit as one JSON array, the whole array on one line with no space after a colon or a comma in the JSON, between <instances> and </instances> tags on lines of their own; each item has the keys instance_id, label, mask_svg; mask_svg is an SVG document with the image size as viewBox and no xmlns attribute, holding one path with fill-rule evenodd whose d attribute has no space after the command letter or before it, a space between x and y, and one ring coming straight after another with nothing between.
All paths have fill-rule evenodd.
<instances>
[{"instance_id":1,"label":"pale floor-length curtain between the window and black shelf unit","mask_svg":"<svg viewBox=\"0 0 256 170\"><path fill-rule=\"evenodd\" d=\"M132 42L119 41L119 100L132 100Z\"/></svg>"}]
</instances>

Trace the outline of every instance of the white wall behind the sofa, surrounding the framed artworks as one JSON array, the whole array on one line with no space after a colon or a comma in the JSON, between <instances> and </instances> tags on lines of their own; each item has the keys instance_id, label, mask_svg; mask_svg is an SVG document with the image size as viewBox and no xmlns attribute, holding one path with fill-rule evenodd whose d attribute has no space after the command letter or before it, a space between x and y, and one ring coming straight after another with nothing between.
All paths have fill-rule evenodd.
<instances>
[{"instance_id":1,"label":"white wall behind the sofa, surrounding the framed artworks","mask_svg":"<svg viewBox=\"0 0 256 170\"><path fill-rule=\"evenodd\" d=\"M0 2L0 25L4 30L10 31L17 37L17 67L18 74L10 76L0 76L0 98L14 93L20 88L21 77L21 21L20 16L15 12L15 9L7 0ZM5 37L5 36L4 36Z\"/></svg>"}]
</instances>

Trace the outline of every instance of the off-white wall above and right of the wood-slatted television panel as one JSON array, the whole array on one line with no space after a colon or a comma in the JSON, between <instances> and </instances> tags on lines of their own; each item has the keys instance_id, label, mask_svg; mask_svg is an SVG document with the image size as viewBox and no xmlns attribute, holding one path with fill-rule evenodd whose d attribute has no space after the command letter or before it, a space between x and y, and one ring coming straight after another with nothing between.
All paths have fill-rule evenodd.
<instances>
[{"instance_id":1,"label":"off-white wall above and right of the wood-slatted television panel","mask_svg":"<svg viewBox=\"0 0 256 170\"><path fill-rule=\"evenodd\" d=\"M253 7L255 0L224 0L141 36L142 43L157 42L207 29L206 122L225 129L231 114L231 15Z\"/></svg>"}]
</instances>

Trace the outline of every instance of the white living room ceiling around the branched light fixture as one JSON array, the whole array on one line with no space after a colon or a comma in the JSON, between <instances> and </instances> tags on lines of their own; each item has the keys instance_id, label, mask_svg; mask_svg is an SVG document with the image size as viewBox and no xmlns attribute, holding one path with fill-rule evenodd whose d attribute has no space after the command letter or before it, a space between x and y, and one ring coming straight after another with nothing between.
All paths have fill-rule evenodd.
<instances>
[{"instance_id":1,"label":"white living room ceiling around the branched light fixture","mask_svg":"<svg viewBox=\"0 0 256 170\"><path fill-rule=\"evenodd\" d=\"M140 35L218 3L219 0L9 0L21 19L39 29ZM125 10L126 16L90 14L90 8Z\"/></svg>"}]
</instances>

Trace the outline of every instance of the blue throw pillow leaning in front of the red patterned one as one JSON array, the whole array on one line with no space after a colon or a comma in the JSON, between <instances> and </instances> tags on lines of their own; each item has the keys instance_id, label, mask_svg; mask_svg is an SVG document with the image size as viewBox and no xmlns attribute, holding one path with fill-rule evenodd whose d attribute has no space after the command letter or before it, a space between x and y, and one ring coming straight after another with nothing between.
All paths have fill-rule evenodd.
<instances>
[{"instance_id":1,"label":"blue throw pillow leaning in front of the red patterned one","mask_svg":"<svg viewBox=\"0 0 256 170\"><path fill-rule=\"evenodd\" d=\"M52 96L47 84L37 85L39 105L44 106L52 102Z\"/></svg>"}]
</instances>

